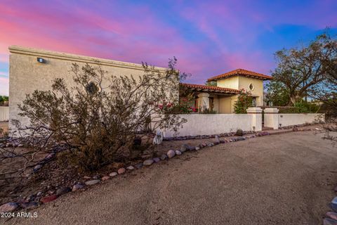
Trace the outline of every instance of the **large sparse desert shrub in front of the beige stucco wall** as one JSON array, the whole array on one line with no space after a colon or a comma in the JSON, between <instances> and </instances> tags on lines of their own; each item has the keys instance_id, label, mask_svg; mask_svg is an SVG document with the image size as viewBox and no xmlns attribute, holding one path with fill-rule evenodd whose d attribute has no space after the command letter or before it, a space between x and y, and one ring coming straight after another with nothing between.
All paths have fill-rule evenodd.
<instances>
[{"instance_id":1,"label":"large sparse desert shrub in front of the beige stucco wall","mask_svg":"<svg viewBox=\"0 0 337 225\"><path fill-rule=\"evenodd\" d=\"M171 113L179 104L179 81L184 77L175 64L176 59L170 60L166 72L144 64L139 79L107 76L100 66L73 64L75 85L58 78L51 90L28 94L19 115L30 124L15 124L20 135L38 140L31 141L35 150L55 150L62 143L67 161L84 170L128 158L141 131L177 131L185 122Z\"/></svg>"}]
</instances>

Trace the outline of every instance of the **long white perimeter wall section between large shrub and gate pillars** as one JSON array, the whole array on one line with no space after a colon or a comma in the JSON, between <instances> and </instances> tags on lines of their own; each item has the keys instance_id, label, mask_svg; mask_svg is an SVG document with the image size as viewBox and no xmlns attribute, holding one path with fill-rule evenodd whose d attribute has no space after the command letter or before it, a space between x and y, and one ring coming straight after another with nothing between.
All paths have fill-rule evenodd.
<instances>
[{"instance_id":1,"label":"long white perimeter wall section between large shrub and gate pillars","mask_svg":"<svg viewBox=\"0 0 337 225\"><path fill-rule=\"evenodd\" d=\"M183 124L183 128L180 128L176 134L174 131L166 131L164 136L222 134L235 132L237 129L252 131L254 116L252 114L181 114L180 117L187 120ZM258 114L257 116L261 117L262 115Z\"/></svg>"}]
</instances>

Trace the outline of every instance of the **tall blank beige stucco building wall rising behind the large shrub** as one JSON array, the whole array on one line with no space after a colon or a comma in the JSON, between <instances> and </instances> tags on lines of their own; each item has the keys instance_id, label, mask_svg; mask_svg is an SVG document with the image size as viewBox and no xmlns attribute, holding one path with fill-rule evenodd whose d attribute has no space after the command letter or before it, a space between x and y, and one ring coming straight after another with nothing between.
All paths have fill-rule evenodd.
<instances>
[{"instance_id":1,"label":"tall blank beige stucco building wall rising behind the large shrub","mask_svg":"<svg viewBox=\"0 0 337 225\"><path fill-rule=\"evenodd\" d=\"M22 103L26 94L34 90L51 89L52 80L58 77L65 79L68 85L73 85L71 66L72 63L79 65L98 65L111 75L133 75L139 77L144 74L142 65L135 63L124 63L116 60L78 56L68 53L30 49L20 46L9 48L9 120L20 119L23 124L28 120L18 117L18 104ZM44 58L46 63L37 62L37 57ZM165 68L156 68L164 72ZM178 90L177 90L178 93ZM10 129L13 125L9 124Z\"/></svg>"}]
</instances>

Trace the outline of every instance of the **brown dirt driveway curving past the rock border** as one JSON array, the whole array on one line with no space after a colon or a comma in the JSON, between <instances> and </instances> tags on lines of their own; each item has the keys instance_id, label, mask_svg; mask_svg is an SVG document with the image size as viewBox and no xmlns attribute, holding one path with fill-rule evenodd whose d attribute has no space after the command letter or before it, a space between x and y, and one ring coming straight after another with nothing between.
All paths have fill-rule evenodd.
<instances>
[{"instance_id":1,"label":"brown dirt driveway curving past the rock border","mask_svg":"<svg viewBox=\"0 0 337 225\"><path fill-rule=\"evenodd\" d=\"M337 148L312 131L204 148L84 192L9 224L322 224L337 184ZM1 221L1 220L0 220Z\"/></svg>"}]
</instances>

